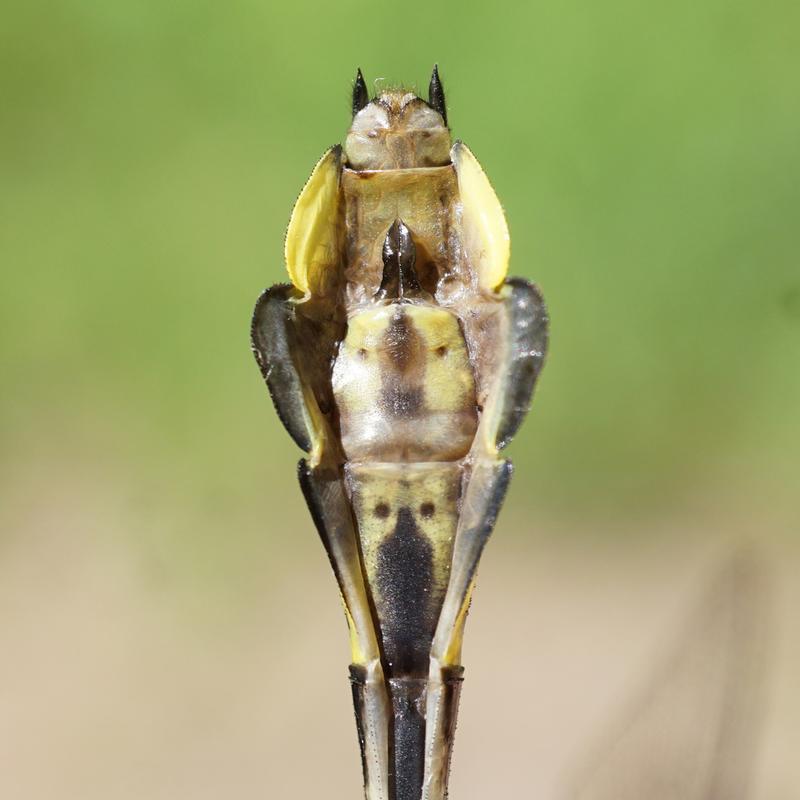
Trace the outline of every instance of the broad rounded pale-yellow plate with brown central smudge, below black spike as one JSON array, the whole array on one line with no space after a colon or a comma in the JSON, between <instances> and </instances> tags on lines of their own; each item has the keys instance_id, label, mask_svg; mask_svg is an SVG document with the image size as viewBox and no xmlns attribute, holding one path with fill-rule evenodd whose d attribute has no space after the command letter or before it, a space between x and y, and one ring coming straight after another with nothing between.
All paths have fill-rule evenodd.
<instances>
[{"instance_id":1,"label":"broad rounded pale-yellow plate with brown central smudge, below black spike","mask_svg":"<svg viewBox=\"0 0 800 800\"><path fill-rule=\"evenodd\" d=\"M348 461L455 461L475 438L475 382L456 317L420 303L352 316L333 368Z\"/></svg>"}]
</instances>

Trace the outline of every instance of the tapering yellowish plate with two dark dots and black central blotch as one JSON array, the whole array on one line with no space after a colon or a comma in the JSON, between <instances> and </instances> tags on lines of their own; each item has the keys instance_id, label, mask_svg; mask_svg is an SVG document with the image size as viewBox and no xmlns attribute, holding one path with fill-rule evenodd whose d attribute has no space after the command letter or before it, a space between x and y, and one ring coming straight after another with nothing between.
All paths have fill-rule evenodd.
<instances>
[{"instance_id":1,"label":"tapering yellowish plate with two dark dots and black central blotch","mask_svg":"<svg viewBox=\"0 0 800 800\"><path fill-rule=\"evenodd\" d=\"M345 468L387 677L425 677L450 580L461 465Z\"/></svg>"}]
</instances>

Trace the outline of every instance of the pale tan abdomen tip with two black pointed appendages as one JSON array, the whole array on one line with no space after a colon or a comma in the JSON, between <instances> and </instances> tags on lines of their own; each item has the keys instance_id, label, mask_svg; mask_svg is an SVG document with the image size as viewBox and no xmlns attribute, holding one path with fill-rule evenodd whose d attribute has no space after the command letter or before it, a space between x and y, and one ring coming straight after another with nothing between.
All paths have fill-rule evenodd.
<instances>
[{"instance_id":1,"label":"pale tan abdomen tip with two black pointed appendages","mask_svg":"<svg viewBox=\"0 0 800 800\"><path fill-rule=\"evenodd\" d=\"M451 144L444 90L435 67L427 101L405 89L388 89L370 100L358 71L353 123L344 145L351 169L442 167L450 163Z\"/></svg>"}]
</instances>

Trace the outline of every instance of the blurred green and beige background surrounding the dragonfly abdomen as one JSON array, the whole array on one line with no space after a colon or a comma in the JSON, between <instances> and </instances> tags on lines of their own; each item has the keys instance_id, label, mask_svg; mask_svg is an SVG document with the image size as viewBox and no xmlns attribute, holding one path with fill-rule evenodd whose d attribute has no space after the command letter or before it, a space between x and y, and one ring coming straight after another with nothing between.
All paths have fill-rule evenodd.
<instances>
[{"instance_id":1,"label":"blurred green and beige background surrounding the dragonfly abdomen","mask_svg":"<svg viewBox=\"0 0 800 800\"><path fill-rule=\"evenodd\" d=\"M0 796L359 796L342 614L248 326L356 66L425 88L434 61L552 318L453 795L562 796L661 654L716 647L681 631L747 542L765 611L714 658L765 665L735 693L747 796L798 796L799 31L785 0L7 0ZM673 708L716 680L678 672Z\"/></svg>"}]
</instances>

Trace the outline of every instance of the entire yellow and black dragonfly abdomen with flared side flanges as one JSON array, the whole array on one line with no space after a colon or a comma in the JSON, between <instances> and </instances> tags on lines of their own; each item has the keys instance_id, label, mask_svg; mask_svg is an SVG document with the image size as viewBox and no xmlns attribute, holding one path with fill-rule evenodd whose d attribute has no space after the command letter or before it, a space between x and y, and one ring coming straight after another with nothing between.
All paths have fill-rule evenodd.
<instances>
[{"instance_id":1,"label":"entire yellow and black dragonfly abdomen with flared side flanges","mask_svg":"<svg viewBox=\"0 0 800 800\"><path fill-rule=\"evenodd\" d=\"M503 503L501 451L542 369L541 292L508 278L502 206L453 142L438 67L423 99L370 97L298 197L290 283L252 348L307 456L298 474L338 582L367 800L442 800L478 562Z\"/></svg>"}]
</instances>

